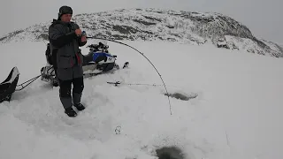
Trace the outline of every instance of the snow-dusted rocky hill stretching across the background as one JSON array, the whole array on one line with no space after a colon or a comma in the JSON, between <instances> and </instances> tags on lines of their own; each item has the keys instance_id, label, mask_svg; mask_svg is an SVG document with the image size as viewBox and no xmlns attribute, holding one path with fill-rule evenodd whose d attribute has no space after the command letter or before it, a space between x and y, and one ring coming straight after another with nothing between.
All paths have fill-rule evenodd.
<instances>
[{"instance_id":1,"label":"snow-dusted rocky hill stretching across the background","mask_svg":"<svg viewBox=\"0 0 283 159\"><path fill-rule=\"evenodd\" d=\"M52 19L0 37L0 42L48 39ZM283 49L274 42L257 39L240 22L220 13L131 9L103 11L73 16L88 36L114 40L169 41L203 45L212 42L218 48L241 49L272 57L283 57Z\"/></svg>"}]
</instances>

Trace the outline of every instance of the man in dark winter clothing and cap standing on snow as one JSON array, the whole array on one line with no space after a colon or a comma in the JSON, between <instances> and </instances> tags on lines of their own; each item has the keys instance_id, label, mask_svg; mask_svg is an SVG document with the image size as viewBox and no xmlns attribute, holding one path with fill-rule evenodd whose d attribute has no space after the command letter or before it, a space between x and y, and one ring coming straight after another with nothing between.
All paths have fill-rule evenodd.
<instances>
[{"instance_id":1,"label":"man in dark winter clothing and cap standing on snow","mask_svg":"<svg viewBox=\"0 0 283 159\"><path fill-rule=\"evenodd\" d=\"M87 43L87 38L82 34L80 27L71 22L72 15L71 7L60 7L58 19L53 19L49 27L49 38L53 66L59 81L60 101L64 106L65 114L76 117L77 113L73 110L73 106L77 110L85 109L80 103L84 82L81 65L83 56L79 47Z\"/></svg>"}]
</instances>

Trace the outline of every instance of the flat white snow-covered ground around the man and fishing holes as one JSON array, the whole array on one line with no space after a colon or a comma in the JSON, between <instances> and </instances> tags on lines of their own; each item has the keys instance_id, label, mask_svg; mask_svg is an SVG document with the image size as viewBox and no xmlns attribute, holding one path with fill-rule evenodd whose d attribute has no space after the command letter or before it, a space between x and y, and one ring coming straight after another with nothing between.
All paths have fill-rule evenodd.
<instances>
[{"instance_id":1,"label":"flat white snow-covered ground around the man and fishing holes","mask_svg":"<svg viewBox=\"0 0 283 159\"><path fill-rule=\"evenodd\" d=\"M91 43L91 42L88 42ZM86 110L67 117L58 87L37 79L0 103L0 158L153 159L164 146L186 159L283 158L283 59L172 42L109 42L118 64L129 68L85 79ZM0 45L0 80L19 68L19 84L46 64L44 42ZM82 48L87 54L88 49ZM106 81L128 84L115 87ZM118 133L118 134L117 134Z\"/></svg>"}]
</instances>

